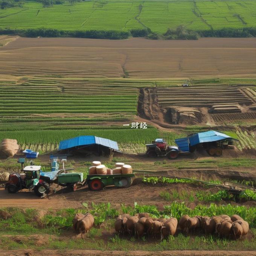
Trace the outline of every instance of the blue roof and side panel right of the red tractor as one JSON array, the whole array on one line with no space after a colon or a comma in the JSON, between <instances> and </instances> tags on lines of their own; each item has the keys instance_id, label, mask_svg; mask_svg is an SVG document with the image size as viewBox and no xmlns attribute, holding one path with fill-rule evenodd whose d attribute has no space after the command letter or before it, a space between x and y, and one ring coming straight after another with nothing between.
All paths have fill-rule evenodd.
<instances>
[{"instance_id":1,"label":"blue roof and side panel right of the red tractor","mask_svg":"<svg viewBox=\"0 0 256 256\"><path fill-rule=\"evenodd\" d=\"M175 143L178 145L181 151L187 152L189 151L189 146L194 146L204 142L214 142L226 139L236 140L224 133L219 133L218 131L206 131L204 133L196 133L186 138L175 139Z\"/></svg>"}]
</instances>

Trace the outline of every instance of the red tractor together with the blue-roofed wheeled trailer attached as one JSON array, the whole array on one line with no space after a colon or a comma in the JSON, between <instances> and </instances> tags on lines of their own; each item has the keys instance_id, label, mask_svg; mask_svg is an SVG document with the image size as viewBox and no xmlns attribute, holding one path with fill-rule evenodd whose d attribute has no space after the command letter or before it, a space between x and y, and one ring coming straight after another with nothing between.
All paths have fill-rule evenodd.
<instances>
[{"instance_id":1,"label":"red tractor together with the blue-roofed wheeled trailer attached","mask_svg":"<svg viewBox=\"0 0 256 256\"><path fill-rule=\"evenodd\" d=\"M164 139L155 139L152 144L146 145L146 155L148 157L167 156L175 159L181 152L194 152L196 149L204 149L211 156L221 156L222 150L233 145L236 140L224 133L217 131L207 131L196 133L189 137L175 139L177 146L168 146Z\"/></svg>"}]
</instances>

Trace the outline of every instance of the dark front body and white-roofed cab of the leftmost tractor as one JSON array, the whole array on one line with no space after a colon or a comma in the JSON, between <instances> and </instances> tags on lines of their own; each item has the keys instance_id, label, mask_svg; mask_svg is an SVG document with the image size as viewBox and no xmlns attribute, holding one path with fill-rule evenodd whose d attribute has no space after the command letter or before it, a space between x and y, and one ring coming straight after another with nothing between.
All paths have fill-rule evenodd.
<instances>
[{"instance_id":1,"label":"dark front body and white-roofed cab of the leftmost tractor","mask_svg":"<svg viewBox=\"0 0 256 256\"><path fill-rule=\"evenodd\" d=\"M26 166L22 170L22 173L15 172L9 175L5 189L7 189L9 193L16 193L25 188L33 190L39 181L40 172L40 165Z\"/></svg>"}]
</instances>

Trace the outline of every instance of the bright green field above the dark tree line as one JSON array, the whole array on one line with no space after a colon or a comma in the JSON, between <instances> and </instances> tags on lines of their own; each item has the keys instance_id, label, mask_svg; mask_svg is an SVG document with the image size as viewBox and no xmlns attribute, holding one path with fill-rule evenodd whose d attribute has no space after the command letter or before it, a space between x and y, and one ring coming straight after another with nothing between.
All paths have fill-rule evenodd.
<instances>
[{"instance_id":1,"label":"bright green field above the dark tree line","mask_svg":"<svg viewBox=\"0 0 256 256\"><path fill-rule=\"evenodd\" d=\"M88 0L44 8L24 1L23 7L0 9L0 28L47 27L59 30L130 30L166 32L180 24L192 30L253 27L256 1Z\"/></svg>"}]
</instances>

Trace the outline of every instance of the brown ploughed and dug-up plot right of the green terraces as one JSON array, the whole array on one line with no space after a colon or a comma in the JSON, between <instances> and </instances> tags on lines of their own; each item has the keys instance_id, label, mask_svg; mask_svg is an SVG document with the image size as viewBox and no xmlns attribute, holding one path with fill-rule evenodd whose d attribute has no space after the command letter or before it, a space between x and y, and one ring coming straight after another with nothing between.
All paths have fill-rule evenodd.
<instances>
[{"instance_id":1,"label":"brown ploughed and dug-up plot right of the green terraces","mask_svg":"<svg viewBox=\"0 0 256 256\"><path fill-rule=\"evenodd\" d=\"M220 121L254 119L254 95L237 86L222 85L140 89L138 113L160 126L215 125ZM248 93L245 93L247 91ZM254 93L254 91L253 91Z\"/></svg>"}]
</instances>

